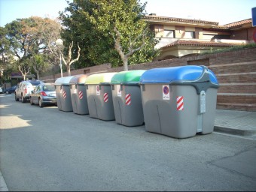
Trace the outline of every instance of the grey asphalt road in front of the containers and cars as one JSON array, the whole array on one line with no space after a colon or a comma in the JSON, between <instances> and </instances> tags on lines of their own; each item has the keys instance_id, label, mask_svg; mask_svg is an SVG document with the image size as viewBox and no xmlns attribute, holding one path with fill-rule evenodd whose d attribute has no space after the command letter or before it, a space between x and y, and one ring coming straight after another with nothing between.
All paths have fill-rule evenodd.
<instances>
[{"instance_id":1,"label":"grey asphalt road in front of the containers and cars","mask_svg":"<svg viewBox=\"0 0 256 192\"><path fill-rule=\"evenodd\" d=\"M0 95L9 190L256 190L256 140L174 139Z\"/></svg>"}]
</instances>

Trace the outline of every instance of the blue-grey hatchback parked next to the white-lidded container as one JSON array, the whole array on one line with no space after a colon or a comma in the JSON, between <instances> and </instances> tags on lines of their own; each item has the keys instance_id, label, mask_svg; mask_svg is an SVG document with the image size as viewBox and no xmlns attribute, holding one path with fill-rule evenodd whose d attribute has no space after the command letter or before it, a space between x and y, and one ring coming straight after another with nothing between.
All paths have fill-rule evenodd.
<instances>
[{"instance_id":1,"label":"blue-grey hatchback parked next to the white-lidded container","mask_svg":"<svg viewBox=\"0 0 256 192\"><path fill-rule=\"evenodd\" d=\"M35 87L30 95L30 104L38 104L44 107L45 104L56 104L56 92L53 83L41 83Z\"/></svg>"}]
</instances>

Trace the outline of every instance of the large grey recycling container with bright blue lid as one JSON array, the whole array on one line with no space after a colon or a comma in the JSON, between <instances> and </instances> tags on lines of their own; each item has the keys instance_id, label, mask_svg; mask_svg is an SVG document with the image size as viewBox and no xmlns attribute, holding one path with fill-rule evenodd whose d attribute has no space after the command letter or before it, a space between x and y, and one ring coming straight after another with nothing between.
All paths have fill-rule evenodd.
<instances>
[{"instance_id":1,"label":"large grey recycling container with bright blue lid","mask_svg":"<svg viewBox=\"0 0 256 192\"><path fill-rule=\"evenodd\" d=\"M212 133L219 84L208 68L155 68L140 83L146 130L175 138Z\"/></svg>"}]
</instances>

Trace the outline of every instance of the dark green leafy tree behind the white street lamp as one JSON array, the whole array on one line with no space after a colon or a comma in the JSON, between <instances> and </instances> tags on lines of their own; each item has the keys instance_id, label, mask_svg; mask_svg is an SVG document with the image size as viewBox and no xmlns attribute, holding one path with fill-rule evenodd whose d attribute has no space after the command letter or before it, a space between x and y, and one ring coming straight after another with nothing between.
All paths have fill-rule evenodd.
<instances>
[{"instance_id":1,"label":"dark green leafy tree behind the white street lamp","mask_svg":"<svg viewBox=\"0 0 256 192\"><path fill-rule=\"evenodd\" d=\"M90 13L91 10L93 10L93 5L90 4L90 1L74 1L69 4L69 7L66 7L65 11L60 13L63 26L61 36L64 40L64 47L66 47L64 52L68 55L69 45L72 41L79 42L81 47L81 58L75 62L75 68L109 62L110 52L114 52L114 47L111 48L109 42L110 38L105 37L102 31L97 30L85 14ZM74 48L78 49L76 43ZM113 58L117 58L117 54Z\"/></svg>"}]
</instances>

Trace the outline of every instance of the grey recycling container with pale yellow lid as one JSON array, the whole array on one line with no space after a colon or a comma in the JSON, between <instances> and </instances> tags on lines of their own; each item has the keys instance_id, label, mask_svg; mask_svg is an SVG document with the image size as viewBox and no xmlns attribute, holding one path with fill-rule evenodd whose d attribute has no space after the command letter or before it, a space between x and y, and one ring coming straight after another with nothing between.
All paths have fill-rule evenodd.
<instances>
[{"instance_id":1,"label":"grey recycling container with pale yellow lid","mask_svg":"<svg viewBox=\"0 0 256 192\"><path fill-rule=\"evenodd\" d=\"M91 118L105 121L114 120L114 107L111 92L111 78L117 73L92 74L87 77L88 110Z\"/></svg>"}]
</instances>

